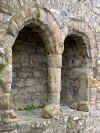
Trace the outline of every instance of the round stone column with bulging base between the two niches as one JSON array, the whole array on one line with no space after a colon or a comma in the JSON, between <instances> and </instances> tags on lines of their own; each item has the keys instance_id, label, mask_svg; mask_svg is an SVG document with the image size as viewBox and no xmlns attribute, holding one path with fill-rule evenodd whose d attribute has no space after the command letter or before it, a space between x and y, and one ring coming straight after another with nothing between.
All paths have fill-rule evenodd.
<instances>
[{"instance_id":1,"label":"round stone column with bulging base between the two niches","mask_svg":"<svg viewBox=\"0 0 100 133\"><path fill-rule=\"evenodd\" d=\"M44 108L44 117L61 116L61 67L62 55L48 55L48 105Z\"/></svg>"}]
</instances>

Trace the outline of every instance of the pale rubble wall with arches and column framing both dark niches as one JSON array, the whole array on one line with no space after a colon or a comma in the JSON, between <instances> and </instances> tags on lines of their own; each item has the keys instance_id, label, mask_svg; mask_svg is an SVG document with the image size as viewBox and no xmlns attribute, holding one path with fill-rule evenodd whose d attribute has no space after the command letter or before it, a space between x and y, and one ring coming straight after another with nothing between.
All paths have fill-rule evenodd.
<instances>
[{"instance_id":1,"label":"pale rubble wall with arches and column framing both dark niches","mask_svg":"<svg viewBox=\"0 0 100 133\"><path fill-rule=\"evenodd\" d=\"M82 79L88 86L89 109L100 109L100 1L99 0L1 0L0 1L0 128L15 120L12 111L12 47L28 24L39 26L48 53L48 105L45 117L62 116L60 109L61 67L68 34L88 38L92 71ZM83 37L84 38L84 37ZM85 39L87 40L87 39ZM87 43L86 43L87 44ZM12 85L13 86L13 85ZM84 103L83 103L84 104Z\"/></svg>"}]
</instances>

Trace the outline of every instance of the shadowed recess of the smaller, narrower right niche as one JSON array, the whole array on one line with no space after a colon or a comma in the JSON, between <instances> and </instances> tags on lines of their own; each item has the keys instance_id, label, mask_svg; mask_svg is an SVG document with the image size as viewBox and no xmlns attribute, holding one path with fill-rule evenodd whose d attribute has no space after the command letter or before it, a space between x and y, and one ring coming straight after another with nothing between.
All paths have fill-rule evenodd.
<instances>
[{"instance_id":1,"label":"shadowed recess of the smaller, narrower right niche","mask_svg":"<svg viewBox=\"0 0 100 133\"><path fill-rule=\"evenodd\" d=\"M62 65L61 104L77 109L81 101L87 101L87 84L82 85L88 72L87 44L77 34L69 35L64 42Z\"/></svg>"}]
</instances>

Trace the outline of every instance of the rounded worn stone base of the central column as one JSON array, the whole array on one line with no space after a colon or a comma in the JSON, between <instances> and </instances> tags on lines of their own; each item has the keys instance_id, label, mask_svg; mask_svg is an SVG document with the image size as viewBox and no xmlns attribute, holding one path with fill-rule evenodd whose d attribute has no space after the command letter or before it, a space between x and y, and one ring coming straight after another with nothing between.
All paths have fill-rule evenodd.
<instances>
[{"instance_id":1,"label":"rounded worn stone base of the central column","mask_svg":"<svg viewBox=\"0 0 100 133\"><path fill-rule=\"evenodd\" d=\"M44 118L56 118L63 117L63 112L61 111L60 105L49 104L43 109Z\"/></svg>"}]
</instances>

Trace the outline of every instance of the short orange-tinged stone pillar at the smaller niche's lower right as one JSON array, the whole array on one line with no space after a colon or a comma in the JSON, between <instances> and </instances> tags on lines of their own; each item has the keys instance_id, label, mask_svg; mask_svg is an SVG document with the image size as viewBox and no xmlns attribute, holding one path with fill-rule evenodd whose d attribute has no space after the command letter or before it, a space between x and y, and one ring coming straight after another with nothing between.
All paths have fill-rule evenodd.
<instances>
[{"instance_id":1,"label":"short orange-tinged stone pillar at the smaller niche's lower right","mask_svg":"<svg viewBox=\"0 0 100 133\"><path fill-rule=\"evenodd\" d=\"M80 95L85 96L83 101L80 101L78 106L78 110L81 111L93 111L96 109L96 94L97 94L97 86L98 81L93 76L86 76L81 79L81 86L85 89L81 91Z\"/></svg>"}]
</instances>

